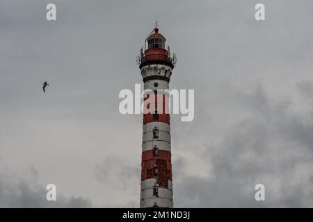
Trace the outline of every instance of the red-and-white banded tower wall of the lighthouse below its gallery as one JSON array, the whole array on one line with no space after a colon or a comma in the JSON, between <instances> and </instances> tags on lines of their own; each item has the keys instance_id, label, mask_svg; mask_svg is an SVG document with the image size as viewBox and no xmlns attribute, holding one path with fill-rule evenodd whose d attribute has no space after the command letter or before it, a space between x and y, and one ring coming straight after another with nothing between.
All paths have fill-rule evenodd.
<instances>
[{"instance_id":1,"label":"red-and-white banded tower wall of the lighthouse below its gallery","mask_svg":"<svg viewBox=\"0 0 313 222\"><path fill-rule=\"evenodd\" d=\"M144 89L154 91L147 96L155 101L155 109L150 112L157 110L158 113L157 117L154 113L143 115L141 207L173 207L170 114L164 113L169 105L168 95L157 91L169 89L171 74L172 68L166 65L149 65L141 69Z\"/></svg>"}]
</instances>

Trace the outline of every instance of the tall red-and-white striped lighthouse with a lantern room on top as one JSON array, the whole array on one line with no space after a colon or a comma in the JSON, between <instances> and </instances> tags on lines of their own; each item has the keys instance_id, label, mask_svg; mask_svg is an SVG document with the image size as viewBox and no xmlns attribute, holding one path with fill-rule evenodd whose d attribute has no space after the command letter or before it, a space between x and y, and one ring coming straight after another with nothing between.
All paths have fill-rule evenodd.
<instances>
[{"instance_id":1,"label":"tall red-and-white striped lighthouse with a lantern room on top","mask_svg":"<svg viewBox=\"0 0 313 222\"><path fill-rule=\"evenodd\" d=\"M144 89L152 93L154 108L143 114L143 144L141 155L141 208L173 207L172 162L170 145L169 90L176 56L170 55L166 38L156 27L145 39L145 47L137 63L143 77ZM153 101L153 100L152 100ZM151 104L150 104L151 106Z\"/></svg>"}]
</instances>

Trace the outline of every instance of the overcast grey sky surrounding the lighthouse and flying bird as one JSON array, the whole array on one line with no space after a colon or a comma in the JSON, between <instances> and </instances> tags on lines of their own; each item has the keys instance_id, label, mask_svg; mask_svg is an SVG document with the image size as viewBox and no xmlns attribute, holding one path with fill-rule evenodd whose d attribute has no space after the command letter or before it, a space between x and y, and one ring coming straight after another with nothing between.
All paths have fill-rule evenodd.
<instances>
[{"instance_id":1,"label":"overcast grey sky surrounding the lighthouse and flying bird","mask_svg":"<svg viewBox=\"0 0 313 222\"><path fill-rule=\"evenodd\" d=\"M0 207L139 207L142 115L118 94L142 82L155 19L178 57L170 88L195 89L195 119L171 116L174 206L313 207L312 8L0 0Z\"/></svg>"}]
</instances>

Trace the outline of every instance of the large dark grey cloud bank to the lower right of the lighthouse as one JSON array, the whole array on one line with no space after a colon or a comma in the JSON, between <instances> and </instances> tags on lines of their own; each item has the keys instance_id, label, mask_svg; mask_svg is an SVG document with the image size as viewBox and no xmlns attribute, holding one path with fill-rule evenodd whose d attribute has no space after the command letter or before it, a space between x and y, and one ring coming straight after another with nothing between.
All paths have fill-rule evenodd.
<instances>
[{"instance_id":1,"label":"large dark grey cloud bank to the lower right of the lighthouse","mask_svg":"<svg viewBox=\"0 0 313 222\"><path fill-rule=\"evenodd\" d=\"M200 161L213 170L210 176L183 177L175 184L177 207L313 206L313 152L307 149L313 147L312 125L305 126L279 101L271 104L262 87L248 97L253 103L243 108L262 105L259 112L263 116L268 110L266 118L247 117L231 126L217 146L203 145ZM238 99L245 102L247 96ZM266 187L265 202L254 199L257 183Z\"/></svg>"}]
</instances>

